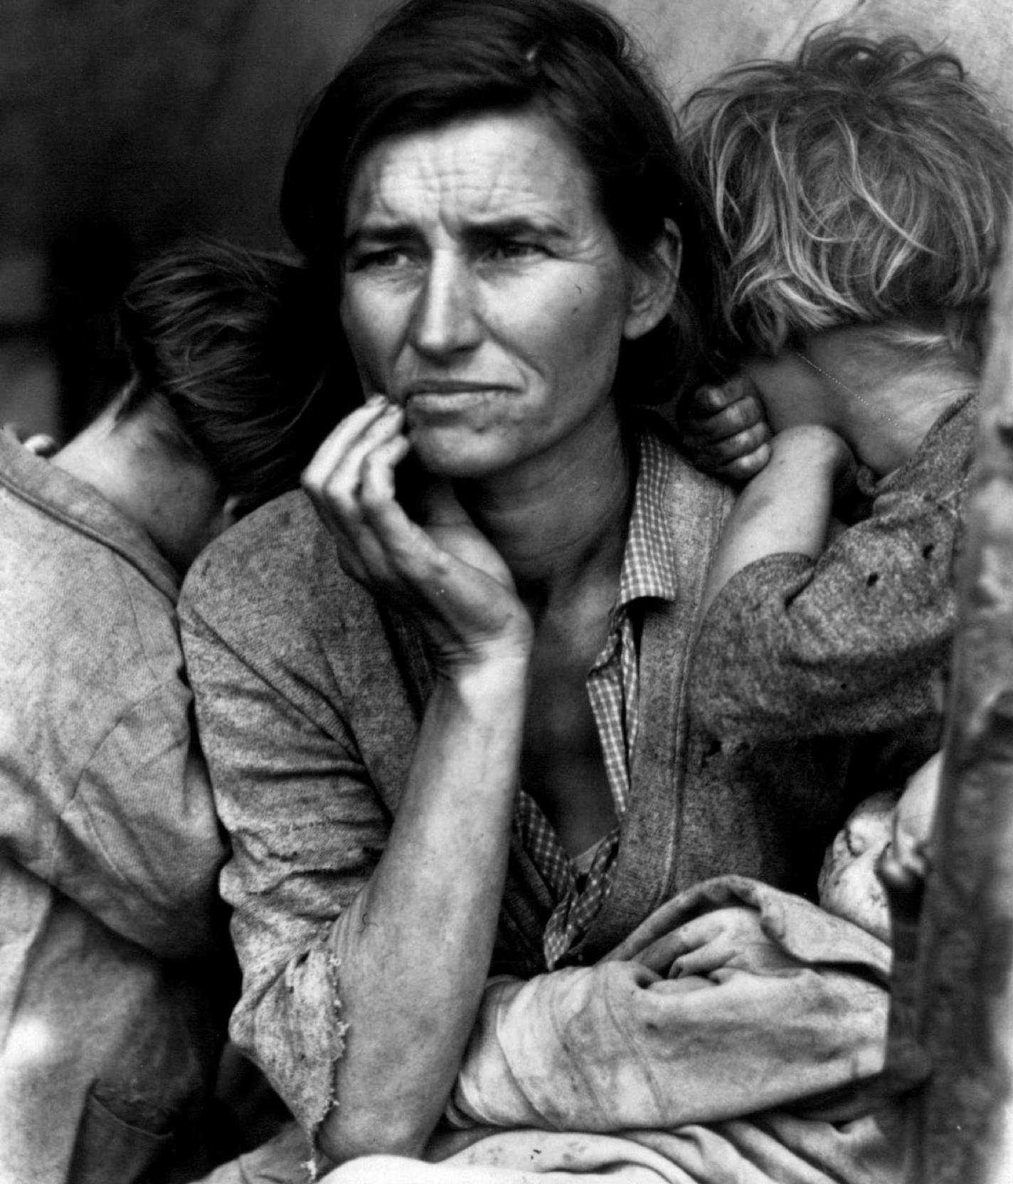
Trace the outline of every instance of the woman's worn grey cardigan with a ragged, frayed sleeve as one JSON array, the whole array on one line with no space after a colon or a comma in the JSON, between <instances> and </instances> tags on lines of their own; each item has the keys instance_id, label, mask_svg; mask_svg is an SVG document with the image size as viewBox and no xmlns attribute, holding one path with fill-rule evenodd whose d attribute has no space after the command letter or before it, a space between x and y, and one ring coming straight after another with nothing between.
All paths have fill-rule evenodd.
<instances>
[{"instance_id":1,"label":"woman's worn grey cardigan with a ragged, frayed sleeve","mask_svg":"<svg viewBox=\"0 0 1013 1184\"><path fill-rule=\"evenodd\" d=\"M824 849L866 793L849 779L845 741L725 745L689 722L689 649L730 496L659 439L667 471L657 510L672 532L676 598L638 613L630 804L609 894L570 965L596 961L675 893L714 875L814 895ZM180 619L232 837L221 889L244 971L232 1035L314 1132L341 1103L344 910L387 841L432 669L412 623L342 572L302 493L251 514L198 559ZM511 842L492 973L546 969L554 906Z\"/></svg>"}]
</instances>

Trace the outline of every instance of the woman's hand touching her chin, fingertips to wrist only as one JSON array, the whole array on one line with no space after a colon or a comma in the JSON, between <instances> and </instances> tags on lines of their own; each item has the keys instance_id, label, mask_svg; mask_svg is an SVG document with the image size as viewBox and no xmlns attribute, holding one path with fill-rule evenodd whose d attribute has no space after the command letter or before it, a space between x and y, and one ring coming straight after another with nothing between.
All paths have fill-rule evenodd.
<instances>
[{"instance_id":1,"label":"woman's hand touching her chin, fingertips to wrist only","mask_svg":"<svg viewBox=\"0 0 1013 1184\"><path fill-rule=\"evenodd\" d=\"M394 470L409 449L402 410L373 395L303 474L342 567L415 617L445 671L491 656L527 657L531 622L510 571L449 483L426 491L421 525L396 501Z\"/></svg>"}]
</instances>

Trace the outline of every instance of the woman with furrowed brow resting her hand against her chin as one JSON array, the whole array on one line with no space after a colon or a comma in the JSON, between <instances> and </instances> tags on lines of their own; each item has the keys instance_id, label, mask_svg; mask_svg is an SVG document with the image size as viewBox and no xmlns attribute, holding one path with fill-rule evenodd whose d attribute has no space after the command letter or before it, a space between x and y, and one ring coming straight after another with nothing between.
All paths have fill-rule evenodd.
<instances>
[{"instance_id":1,"label":"woman with furrowed brow resting her hand against her chin","mask_svg":"<svg viewBox=\"0 0 1013 1184\"><path fill-rule=\"evenodd\" d=\"M609 18L413 0L317 103L283 210L368 398L181 601L232 1030L325 1157L418 1156L490 971L593 961L708 875L812 890L847 746L686 723L729 495L638 405L695 378L706 240ZM882 1000L833 1049L825 1002L779 1003L834 1067L809 1092L878 1067Z\"/></svg>"}]
</instances>

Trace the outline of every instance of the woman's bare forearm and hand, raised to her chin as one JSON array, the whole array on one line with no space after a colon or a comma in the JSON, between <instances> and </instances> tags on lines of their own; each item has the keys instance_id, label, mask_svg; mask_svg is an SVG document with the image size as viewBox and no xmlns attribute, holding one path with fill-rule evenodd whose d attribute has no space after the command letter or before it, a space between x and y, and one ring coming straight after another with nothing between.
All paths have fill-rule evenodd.
<instances>
[{"instance_id":1,"label":"woman's bare forearm and hand, raised to her chin","mask_svg":"<svg viewBox=\"0 0 1013 1184\"><path fill-rule=\"evenodd\" d=\"M439 1120L489 973L523 739L531 620L449 488L420 491L421 523L399 504L409 449L402 411L374 397L303 475L343 568L413 617L440 675L383 851L329 939L356 1034L318 1134L336 1162L421 1156Z\"/></svg>"}]
</instances>

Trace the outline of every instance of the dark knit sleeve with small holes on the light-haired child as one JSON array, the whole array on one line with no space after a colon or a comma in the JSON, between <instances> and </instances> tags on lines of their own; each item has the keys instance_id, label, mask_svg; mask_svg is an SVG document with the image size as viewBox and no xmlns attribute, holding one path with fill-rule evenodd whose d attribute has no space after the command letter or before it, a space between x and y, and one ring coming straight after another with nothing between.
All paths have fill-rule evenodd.
<instances>
[{"instance_id":1,"label":"dark knit sleeve with small holes on the light-haired child","mask_svg":"<svg viewBox=\"0 0 1013 1184\"><path fill-rule=\"evenodd\" d=\"M948 408L819 559L768 555L725 584L693 654L701 727L746 741L922 727L938 745L976 422L974 397Z\"/></svg>"}]
</instances>

